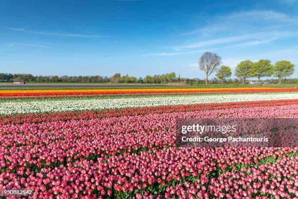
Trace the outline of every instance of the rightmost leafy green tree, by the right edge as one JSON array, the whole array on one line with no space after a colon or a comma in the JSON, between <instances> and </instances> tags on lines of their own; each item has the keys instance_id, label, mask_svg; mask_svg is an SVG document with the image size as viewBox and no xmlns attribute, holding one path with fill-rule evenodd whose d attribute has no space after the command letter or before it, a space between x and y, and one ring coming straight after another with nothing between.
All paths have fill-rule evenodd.
<instances>
[{"instance_id":1,"label":"rightmost leafy green tree, by the right edge","mask_svg":"<svg viewBox=\"0 0 298 199\"><path fill-rule=\"evenodd\" d=\"M295 71L295 64L291 61L281 60L277 61L273 67L273 76L279 78L279 83L282 78L293 75Z\"/></svg>"}]
</instances>

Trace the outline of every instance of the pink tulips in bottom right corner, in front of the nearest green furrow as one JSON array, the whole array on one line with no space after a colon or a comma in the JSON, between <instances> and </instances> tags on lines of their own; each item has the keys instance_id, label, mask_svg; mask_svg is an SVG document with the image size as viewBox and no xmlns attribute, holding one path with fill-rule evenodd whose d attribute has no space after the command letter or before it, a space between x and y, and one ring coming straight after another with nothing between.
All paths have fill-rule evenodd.
<instances>
[{"instance_id":1,"label":"pink tulips in bottom right corner, in front of the nearest green furrow","mask_svg":"<svg viewBox=\"0 0 298 199\"><path fill-rule=\"evenodd\" d=\"M166 188L165 198L182 199L293 199L298 197L298 157L285 158L241 172L225 172L217 178L205 176ZM135 198L150 198L136 195ZM162 198L162 196L160 196Z\"/></svg>"}]
</instances>

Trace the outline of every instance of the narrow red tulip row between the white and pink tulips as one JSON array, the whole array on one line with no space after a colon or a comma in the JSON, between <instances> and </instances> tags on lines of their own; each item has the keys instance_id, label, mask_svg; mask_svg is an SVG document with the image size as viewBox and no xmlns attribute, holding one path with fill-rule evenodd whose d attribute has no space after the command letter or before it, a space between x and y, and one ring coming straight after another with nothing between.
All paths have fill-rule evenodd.
<instances>
[{"instance_id":1,"label":"narrow red tulip row between the white and pink tulips","mask_svg":"<svg viewBox=\"0 0 298 199\"><path fill-rule=\"evenodd\" d=\"M94 119L109 118L147 114L163 114L173 112L189 112L200 110L217 110L241 107L259 107L259 106L279 106L298 104L298 100L266 100L266 101L245 101L245 102L228 102L228 103L211 103L211 104L187 104L172 106L151 106L138 108L123 109L106 109L106 110L87 110L87 111L71 111L59 113L37 113L37 114L16 114L16 115L0 115L0 125L4 124L22 124L22 123L41 123L50 121L66 121L70 119Z\"/></svg>"}]
</instances>

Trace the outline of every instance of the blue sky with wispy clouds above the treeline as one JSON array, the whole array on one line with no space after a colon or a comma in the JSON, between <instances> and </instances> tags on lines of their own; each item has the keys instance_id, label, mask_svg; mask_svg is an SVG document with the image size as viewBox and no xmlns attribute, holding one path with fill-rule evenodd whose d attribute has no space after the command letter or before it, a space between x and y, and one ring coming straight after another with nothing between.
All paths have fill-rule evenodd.
<instances>
[{"instance_id":1,"label":"blue sky with wispy clouds above the treeline","mask_svg":"<svg viewBox=\"0 0 298 199\"><path fill-rule=\"evenodd\" d=\"M204 79L205 51L298 65L298 0L0 0L0 72Z\"/></svg>"}]
</instances>

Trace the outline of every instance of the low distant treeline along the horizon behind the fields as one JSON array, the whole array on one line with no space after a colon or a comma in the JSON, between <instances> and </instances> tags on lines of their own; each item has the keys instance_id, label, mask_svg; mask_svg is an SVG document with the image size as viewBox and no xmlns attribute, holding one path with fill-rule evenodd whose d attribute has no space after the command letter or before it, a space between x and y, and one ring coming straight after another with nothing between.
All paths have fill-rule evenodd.
<instances>
[{"instance_id":1,"label":"low distant treeline along the horizon behind the fields","mask_svg":"<svg viewBox=\"0 0 298 199\"><path fill-rule=\"evenodd\" d=\"M186 82L189 84L203 84L205 80L198 78L180 78L174 72L162 75L147 75L145 78L136 78L129 75L121 76L120 73L114 74L112 77L103 76L33 76L31 74L10 74L0 73L0 82L13 82L14 80L25 80L25 82L36 83L171 83L171 82ZM222 83L220 78L212 78L209 83ZM241 79L224 79L225 83L240 84ZM278 83L278 79L262 80L262 83ZM298 84L298 78L282 79L281 83Z\"/></svg>"}]
</instances>

